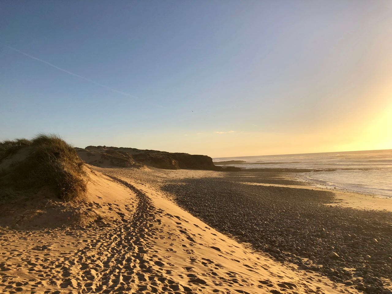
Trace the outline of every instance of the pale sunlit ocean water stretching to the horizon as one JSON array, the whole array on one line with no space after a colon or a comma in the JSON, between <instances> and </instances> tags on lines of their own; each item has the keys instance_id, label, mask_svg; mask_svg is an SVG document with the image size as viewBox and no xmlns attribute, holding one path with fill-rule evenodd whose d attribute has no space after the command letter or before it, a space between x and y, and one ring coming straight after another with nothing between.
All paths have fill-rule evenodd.
<instances>
[{"instance_id":1,"label":"pale sunlit ocean water stretching to the horizon","mask_svg":"<svg viewBox=\"0 0 392 294\"><path fill-rule=\"evenodd\" d=\"M243 169L333 169L298 173L298 180L318 186L392 197L392 149L213 158L214 162L243 160Z\"/></svg>"}]
</instances>

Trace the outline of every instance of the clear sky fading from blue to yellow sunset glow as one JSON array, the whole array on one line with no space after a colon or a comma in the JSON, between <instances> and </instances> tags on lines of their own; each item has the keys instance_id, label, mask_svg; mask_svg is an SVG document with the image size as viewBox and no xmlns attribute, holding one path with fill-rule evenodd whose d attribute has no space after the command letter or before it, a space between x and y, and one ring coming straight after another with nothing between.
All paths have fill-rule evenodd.
<instances>
[{"instance_id":1,"label":"clear sky fading from blue to yellow sunset glow","mask_svg":"<svg viewBox=\"0 0 392 294\"><path fill-rule=\"evenodd\" d=\"M0 140L392 149L392 2L1 1Z\"/></svg>"}]
</instances>

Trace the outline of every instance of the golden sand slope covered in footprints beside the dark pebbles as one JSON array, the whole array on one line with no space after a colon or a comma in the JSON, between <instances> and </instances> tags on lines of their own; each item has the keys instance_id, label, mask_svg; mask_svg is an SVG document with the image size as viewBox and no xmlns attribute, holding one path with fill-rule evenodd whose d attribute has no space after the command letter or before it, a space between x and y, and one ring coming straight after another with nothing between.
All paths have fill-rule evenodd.
<instances>
[{"instance_id":1,"label":"golden sand slope covered in footprints beside the dark pebbles","mask_svg":"<svg viewBox=\"0 0 392 294\"><path fill-rule=\"evenodd\" d=\"M78 229L0 236L1 293L354 293L212 229L143 178L91 172Z\"/></svg>"}]
</instances>

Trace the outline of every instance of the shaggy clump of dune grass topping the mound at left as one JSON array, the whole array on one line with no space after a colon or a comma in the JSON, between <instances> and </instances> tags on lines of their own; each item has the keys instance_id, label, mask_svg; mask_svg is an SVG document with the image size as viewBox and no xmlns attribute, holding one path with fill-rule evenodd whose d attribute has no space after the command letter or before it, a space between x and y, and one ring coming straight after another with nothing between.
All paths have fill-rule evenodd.
<instances>
[{"instance_id":1,"label":"shaggy clump of dune grass topping the mound at left","mask_svg":"<svg viewBox=\"0 0 392 294\"><path fill-rule=\"evenodd\" d=\"M16 190L46 186L65 201L85 195L87 174L74 147L57 135L38 134L32 140L1 142L0 162L23 147L29 147L27 157L0 172L0 186Z\"/></svg>"}]
</instances>

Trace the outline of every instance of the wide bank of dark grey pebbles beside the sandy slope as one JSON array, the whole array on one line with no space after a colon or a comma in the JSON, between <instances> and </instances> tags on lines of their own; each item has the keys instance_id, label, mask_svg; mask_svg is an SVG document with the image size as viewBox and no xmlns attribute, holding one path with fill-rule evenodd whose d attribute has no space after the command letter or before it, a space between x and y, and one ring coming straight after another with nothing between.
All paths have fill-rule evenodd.
<instances>
[{"instance_id":1,"label":"wide bank of dark grey pebbles beside the sandy slope","mask_svg":"<svg viewBox=\"0 0 392 294\"><path fill-rule=\"evenodd\" d=\"M392 213L332 207L330 191L241 183L265 183L248 176L185 179L163 189L194 216L282 263L366 293L392 293Z\"/></svg>"}]
</instances>

